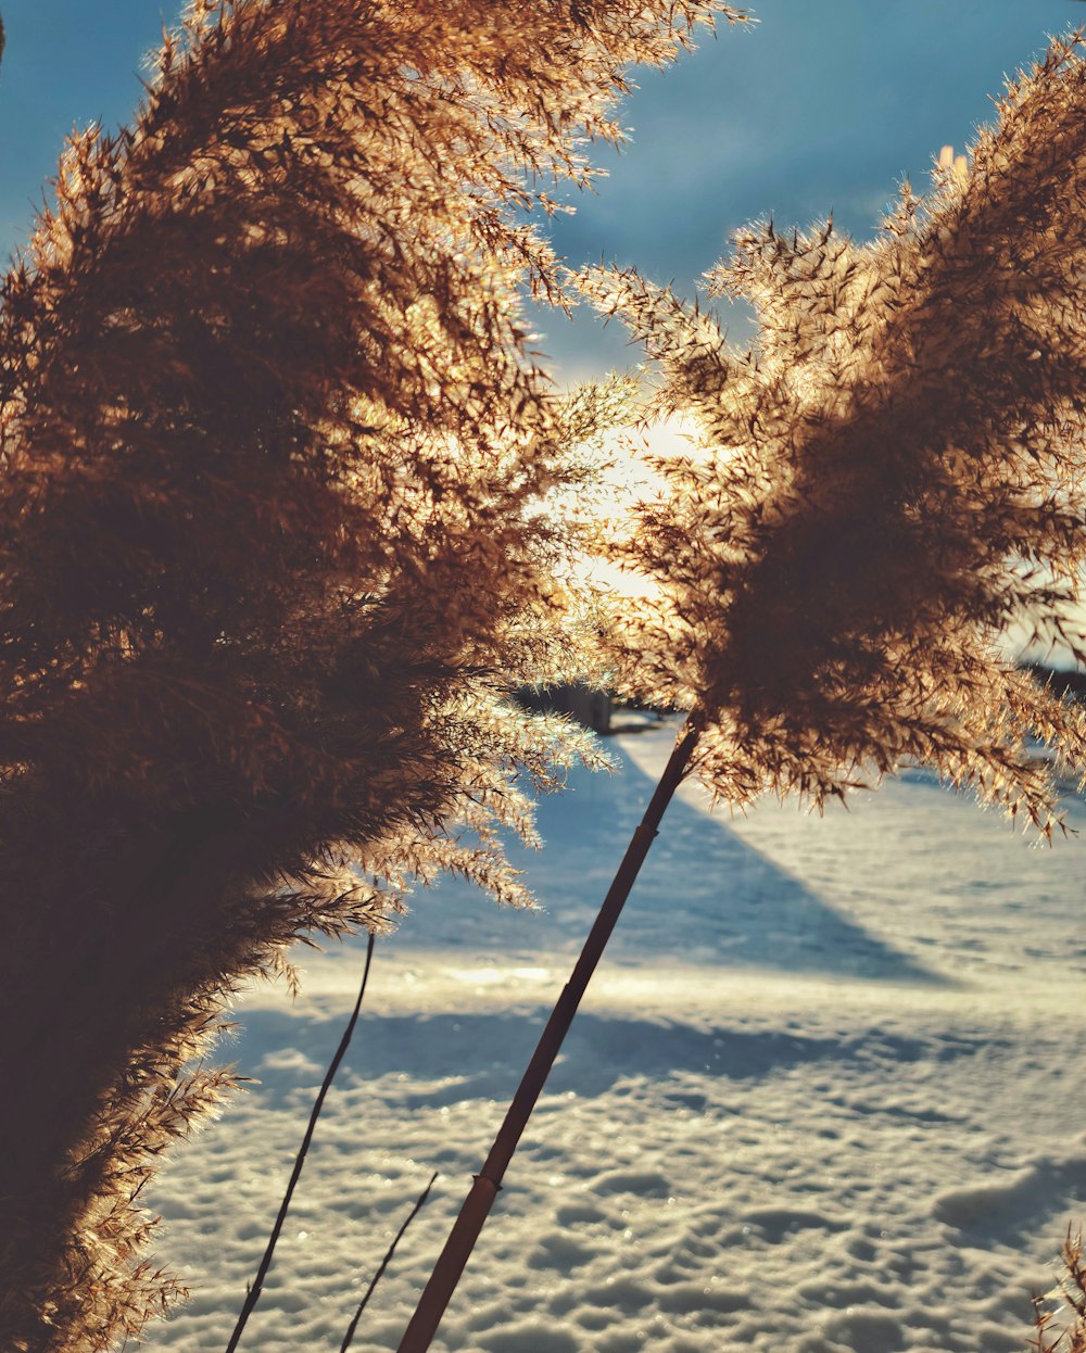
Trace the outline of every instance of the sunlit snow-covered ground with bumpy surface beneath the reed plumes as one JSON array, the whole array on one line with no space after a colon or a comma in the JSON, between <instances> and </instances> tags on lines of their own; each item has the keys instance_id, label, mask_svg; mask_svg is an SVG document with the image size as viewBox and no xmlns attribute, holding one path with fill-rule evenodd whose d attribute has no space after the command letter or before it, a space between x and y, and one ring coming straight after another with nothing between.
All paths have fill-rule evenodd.
<instances>
[{"instance_id":1,"label":"sunlit snow-covered ground with bumpy surface beneath the reed plumes","mask_svg":"<svg viewBox=\"0 0 1086 1353\"><path fill-rule=\"evenodd\" d=\"M541 805L544 913L464 888L377 944L242 1349L395 1350L674 727ZM1031 848L920 771L806 816L672 804L434 1349L1022 1349L1086 1220L1083 836ZM193 1288L145 1346L226 1346L364 944L261 988L223 1051L254 1084L150 1206Z\"/></svg>"}]
</instances>

